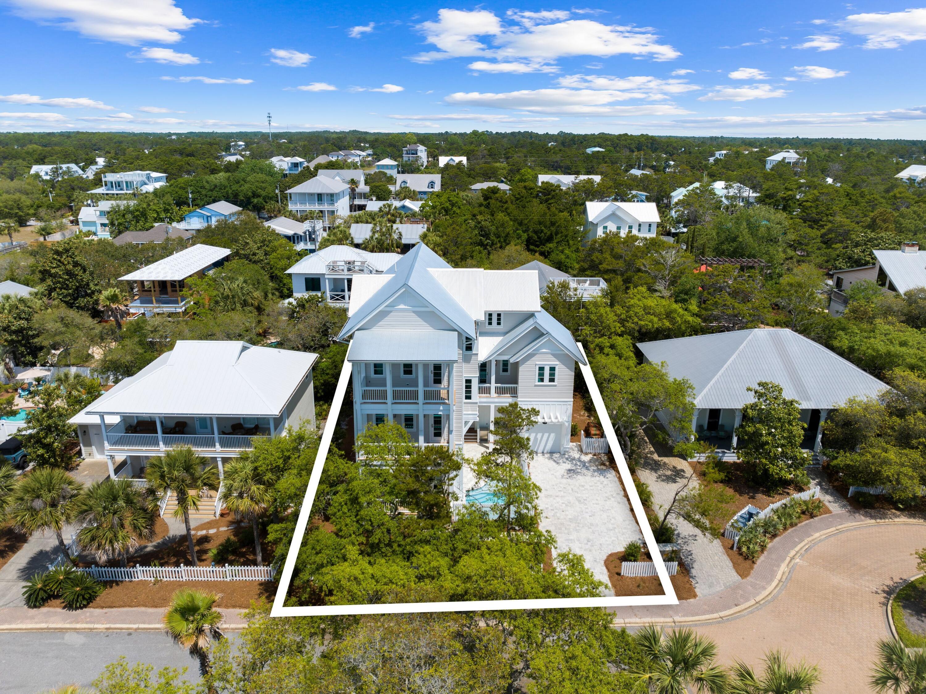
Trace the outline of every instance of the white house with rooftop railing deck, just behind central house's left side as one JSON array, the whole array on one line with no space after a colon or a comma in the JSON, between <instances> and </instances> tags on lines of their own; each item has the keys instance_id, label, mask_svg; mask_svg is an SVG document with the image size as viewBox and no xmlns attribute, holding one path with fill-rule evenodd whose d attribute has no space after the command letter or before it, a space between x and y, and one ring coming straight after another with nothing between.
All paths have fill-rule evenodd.
<instances>
[{"instance_id":1,"label":"white house with rooftop railing deck, just behind central house's left side","mask_svg":"<svg viewBox=\"0 0 926 694\"><path fill-rule=\"evenodd\" d=\"M286 270L293 276L293 296L324 294L329 304L346 306L359 275L378 275L402 258L395 253L368 253L352 246L328 246Z\"/></svg>"}]
</instances>

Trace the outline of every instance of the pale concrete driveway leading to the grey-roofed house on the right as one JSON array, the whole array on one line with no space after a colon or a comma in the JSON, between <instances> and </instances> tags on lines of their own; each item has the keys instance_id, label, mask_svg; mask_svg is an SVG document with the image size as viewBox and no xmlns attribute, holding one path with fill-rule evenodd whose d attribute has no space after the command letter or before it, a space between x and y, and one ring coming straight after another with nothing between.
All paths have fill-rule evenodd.
<instances>
[{"instance_id":1,"label":"pale concrete driveway leading to the grey-roofed house on the right","mask_svg":"<svg viewBox=\"0 0 926 694\"><path fill-rule=\"evenodd\" d=\"M692 468L681 458L660 458L650 450L644 463L637 466L637 477L645 482L653 492L654 510L659 506L669 507L675 491L684 484L692 474ZM695 478L688 487L697 489ZM682 561L688 567L694 589L699 598L719 593L740 582L740 576L733 568L727 553L720 542L705 537L699 530L682 518L669 518L669 525L675 527L675 541L682 546Z\"/></svg>"}]
</instances>

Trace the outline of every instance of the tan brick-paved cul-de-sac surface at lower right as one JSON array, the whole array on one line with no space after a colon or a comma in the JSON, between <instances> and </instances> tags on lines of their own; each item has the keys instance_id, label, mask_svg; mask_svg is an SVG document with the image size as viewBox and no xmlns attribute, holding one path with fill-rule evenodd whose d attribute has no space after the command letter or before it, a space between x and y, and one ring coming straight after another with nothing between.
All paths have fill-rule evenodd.
<instances>
[{"instance_id":1,"label":"tan brick-paved cul-de-sac surface at lower right","mask_svg":"<svg viewBox=\"0 0 926 694\"><path fill-rule=\"evenodd\" d=\"M869 692L879 639L889 638L886 595L916 576L912 552L926 547L926 526L847 530L805 552L773 601L728 622L696 627L713 638L720 661L759 665L782 649L818 663L815 694Z\"/></svg>"}]
</instances>

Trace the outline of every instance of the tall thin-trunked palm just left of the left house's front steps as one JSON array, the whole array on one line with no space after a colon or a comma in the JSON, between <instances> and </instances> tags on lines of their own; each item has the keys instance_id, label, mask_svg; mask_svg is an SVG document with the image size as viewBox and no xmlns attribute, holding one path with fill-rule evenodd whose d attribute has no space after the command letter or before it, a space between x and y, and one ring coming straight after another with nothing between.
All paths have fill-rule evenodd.
<instances>
[{"instance_id":1,"label":"tall thin-trunked palm just left of the left house's front steps","mask_svg":"<svg viewBox=\"0 0 926 694\"><path fill-rule=\"evenodd\" d=\"M219 470L215 465L206 465L206 458L196 455L192 446L176 446L164 455L148 460L145 471L148 484L163 495L173 491L177 495L175 518L182 518L186 527L186 540L190 547L190 562L196 563L196 546L193 530L190 529L190 510L199 509L199 490L219 489ZM191 495L190 491L194 493Z\"/></svg>"}]
</instances>

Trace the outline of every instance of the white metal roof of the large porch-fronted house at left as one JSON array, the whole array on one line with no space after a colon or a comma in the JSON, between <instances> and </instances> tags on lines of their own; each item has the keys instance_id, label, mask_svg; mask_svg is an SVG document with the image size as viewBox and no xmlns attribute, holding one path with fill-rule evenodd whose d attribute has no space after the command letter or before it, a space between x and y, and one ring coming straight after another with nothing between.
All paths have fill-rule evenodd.
<instances>
[{"instance_id":1,"label":"white metal roof of the large porch-fronted house at left","mask_svg":"<svg viewBox=\"0 0 926 694\"><path fill-rule=\"evenodd\" d=\"M277 416L318 354L239 341L177 341L87 415Z\"/></svg>"}]
</instances>

